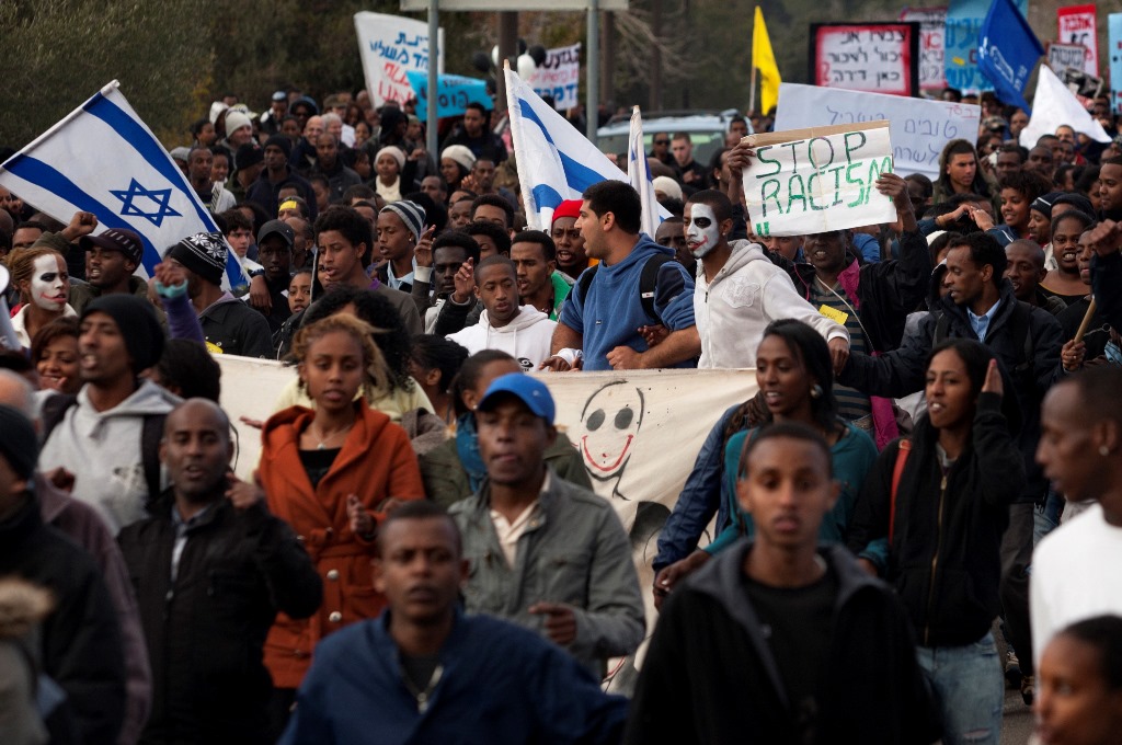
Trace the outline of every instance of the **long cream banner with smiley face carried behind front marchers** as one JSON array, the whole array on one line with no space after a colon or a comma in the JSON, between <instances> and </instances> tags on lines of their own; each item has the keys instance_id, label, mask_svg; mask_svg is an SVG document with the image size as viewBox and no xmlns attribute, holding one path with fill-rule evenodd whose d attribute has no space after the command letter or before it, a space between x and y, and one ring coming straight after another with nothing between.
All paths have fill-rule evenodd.
<instances>
[{"instance_id":1,"label":"long cream banner with smiley face carried behind front marchers","mask_svg":"<svg viewBox=\"0 0 1122 745\"><path fill-rule=\"evenodd\" d=\"M265 420L296 370L274 360L215 355L221 405L238 431L234 471L249 479L261 433L241 422ZM557 404L557 425L581 453L596 493L611 503L632 542L646 605L647 635L657 613L651 596L659 534L709 431L729 406L756 394L753 370L636 370L542 374ZM711 530L711 527L710 527ZM700 544L712 540L702 535ZM634 684L636 654L614 668L608 689Z\"/></svg>"}]
</instances>

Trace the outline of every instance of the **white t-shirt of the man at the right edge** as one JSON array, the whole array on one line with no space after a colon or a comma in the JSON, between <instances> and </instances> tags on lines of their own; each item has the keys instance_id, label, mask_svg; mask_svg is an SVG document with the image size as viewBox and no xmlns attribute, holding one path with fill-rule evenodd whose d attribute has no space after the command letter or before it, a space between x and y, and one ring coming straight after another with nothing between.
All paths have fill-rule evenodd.
<instances>
[{"instance_id":1,"label":"white t-shirt of the man at the right edge","mask_svg":"<svg viewBox=\"0 0 1122 745\"><path fill-rule=\"evenodd\" d=\"M1094 504L1052 531L1032 555L1029 582L1032 656L1077 620L1122 616L1122 527L1110 525Z\"/></svg>"}]
</instances>

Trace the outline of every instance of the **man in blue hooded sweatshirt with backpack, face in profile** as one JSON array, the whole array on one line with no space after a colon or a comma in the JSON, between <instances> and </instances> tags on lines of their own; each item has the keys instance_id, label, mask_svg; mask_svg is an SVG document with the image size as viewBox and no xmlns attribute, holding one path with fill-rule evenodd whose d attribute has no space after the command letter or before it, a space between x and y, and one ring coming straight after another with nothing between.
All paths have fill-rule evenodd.
<instances>
[{"instance_id":1,"label":"man in blue hooded sweatshirt with backpack, face in profile","mask_svg":"<svg viewBox=\"0 0 1122 745\"><path fill-rule=\"evenodd\" d=\"M696 367L701 340L693 323L693 279L671 249L640 233L638 194L624 182L605 181L582 199L576 227L585 251L600 264L573 285L553 331L553 357L542 368ZM644 302L644 294L653 296ZM653 325L669 333L650 347L643 329Z\"/></svg>"}]
</instances>

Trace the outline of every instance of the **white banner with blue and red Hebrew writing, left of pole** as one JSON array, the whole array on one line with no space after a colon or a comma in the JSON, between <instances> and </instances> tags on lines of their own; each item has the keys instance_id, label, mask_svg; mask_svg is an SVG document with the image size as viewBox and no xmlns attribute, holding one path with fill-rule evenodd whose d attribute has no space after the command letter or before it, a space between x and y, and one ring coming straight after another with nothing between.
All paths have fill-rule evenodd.
<instances>
[{"instance_id":1,"label":"white banner with blue and red Hebrew writing, left of pole","mask_svg":"<svg viewBox=\"0 0 1122 745\"><path fill-rule=\"evenodd\" d=\"M362 11L355 13L355 31L370 103L380 107L386 101L413 98L405 73L411 70L429 72L429 25L412 18ZM440 30L436 44L444 49L444 29ZM443 54L436 71L444 71Z\"/></svg>"}]
</instances>

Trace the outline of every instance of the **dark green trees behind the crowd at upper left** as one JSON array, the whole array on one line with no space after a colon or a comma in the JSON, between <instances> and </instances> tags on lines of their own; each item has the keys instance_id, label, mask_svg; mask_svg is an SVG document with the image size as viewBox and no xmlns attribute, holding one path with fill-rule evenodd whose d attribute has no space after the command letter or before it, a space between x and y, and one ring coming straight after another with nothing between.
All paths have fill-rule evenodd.
<instances>
[{"instance_id":1,"label":"dark green trees behind the crowd at upper left","mask_svg":"<svg viewBox=\"0 0 1122 745\"><path fill-rule=\"evenodd\" d=\"M112 80L168 148L232 92L252 111L293 86L322 102L364 86L352 17L398 0L0 0L7 71L0 145L22 147ZM445 70L473 74L457 44L472 13L444 13ZM491 16L491 15L487 15ZM419 18L423 16L416 16Z\"/></svg>"}]
</instances>

